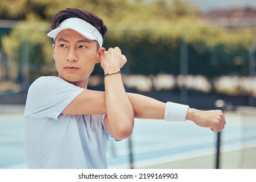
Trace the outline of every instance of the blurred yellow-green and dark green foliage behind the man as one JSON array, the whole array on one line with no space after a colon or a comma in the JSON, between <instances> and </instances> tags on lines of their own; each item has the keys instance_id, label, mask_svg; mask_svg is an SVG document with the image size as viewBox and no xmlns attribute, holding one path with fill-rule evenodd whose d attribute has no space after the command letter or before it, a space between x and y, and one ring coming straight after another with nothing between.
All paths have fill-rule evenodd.
<instances>
[{"instance_id":1,"label":"blurred yellow-green and dark green foliage behind the man","mask_svg":"<svg viewBox=\"0 0 256 182\"><path fill-rule=\"evenodd\" d=\"M52 42L46 32L53 15L67 7L83 8L104 19L109 27L104 46L121 47L129 60L124 68L128 73L178 75L180 41L185 40L190 74L248 74L248 51L256 40L255 30L209 25L197 18L197 6L181 0L1 0L0 19L21 20L12 31L0 34L0 46L9 61L24 61L22 46L27 42L31 74L54 73ZM238 57L242 65L234 64Z\"/></svg>"}]
</instances>

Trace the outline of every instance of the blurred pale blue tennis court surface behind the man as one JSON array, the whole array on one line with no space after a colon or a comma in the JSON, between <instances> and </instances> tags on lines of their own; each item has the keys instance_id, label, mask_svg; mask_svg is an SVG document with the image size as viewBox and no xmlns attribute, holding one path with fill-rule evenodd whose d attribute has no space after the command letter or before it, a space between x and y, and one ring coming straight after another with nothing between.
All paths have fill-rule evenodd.
<instances>
[{"instance_id":1,"label":"blurred pale blue tennis court surface behind the man","mask_svg":"<svg viewBox=\"0 0 256 182\"><path fill-rule=\"evenodd\" d=\"M256 146L256 114L225 112L227 125L221 132L221 151ZM191 159L216 153L217 134L193 122L135 120L130 138L110 140L109 168L134 168ZM132 146L130 148L129 146ZM132 153L132 154L131 154ZM255 154L256 155L256 154ZM0 113L0 168L27 168L22 113Z\"/></svg>"}]
</instances>

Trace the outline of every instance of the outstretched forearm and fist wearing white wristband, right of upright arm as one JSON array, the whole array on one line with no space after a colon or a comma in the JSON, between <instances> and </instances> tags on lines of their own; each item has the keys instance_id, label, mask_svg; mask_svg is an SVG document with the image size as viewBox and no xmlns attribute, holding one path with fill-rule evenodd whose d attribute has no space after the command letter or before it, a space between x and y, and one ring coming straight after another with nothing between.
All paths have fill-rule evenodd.
<instances>
[{"instance_id":1,"label":"outstretched forearm and fist wearing white wristband, right of upright arm","mask_svg":"<svg viewBox=\"0 0 256 182\"><path fill-rule=\"evenodd\" d=\"M190 120L201 127L210 127L215 133L225 127L221 110L198 110L178 103L163 103L156 99L128 93L134 108L135 118L160 119L165 121Z\"/></svg>"}]
</instances>

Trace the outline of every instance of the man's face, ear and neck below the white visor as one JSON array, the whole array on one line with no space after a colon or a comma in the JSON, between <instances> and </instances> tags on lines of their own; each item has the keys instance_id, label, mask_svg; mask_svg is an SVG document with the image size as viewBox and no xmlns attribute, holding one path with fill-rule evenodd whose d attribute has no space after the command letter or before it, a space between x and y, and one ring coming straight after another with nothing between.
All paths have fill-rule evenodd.
<instances>
[{"instance_id":1,"label":"man's face, ear and neck below the white visor","mask_svg":"<svg viewBox=\"0 0 256 182\"><path fill-rule=\"evenodd\" d=\"M53 44L53 58L59 77L77 86L87 85L89 75L100 62L98 43L72 29L59 32Z\"/></svg>"}]
</instances>

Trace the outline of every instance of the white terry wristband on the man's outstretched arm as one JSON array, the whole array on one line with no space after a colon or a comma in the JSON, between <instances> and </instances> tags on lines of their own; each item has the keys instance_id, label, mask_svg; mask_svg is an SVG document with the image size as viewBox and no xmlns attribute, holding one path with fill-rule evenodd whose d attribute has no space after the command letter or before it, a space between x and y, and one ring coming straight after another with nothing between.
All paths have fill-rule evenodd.
<instances>
[{"instance_id":1,"label":"white terry wristband on the man's outstretched arm","mask_svg":"<svg viewBox=\"0 0 256 182\"><path fill-rule=\"evenodd\" d=\"M167 122L185 122L188 105L167 102L165 104L164 120Z\"/></svg>"}]
</instances>

